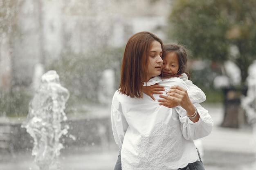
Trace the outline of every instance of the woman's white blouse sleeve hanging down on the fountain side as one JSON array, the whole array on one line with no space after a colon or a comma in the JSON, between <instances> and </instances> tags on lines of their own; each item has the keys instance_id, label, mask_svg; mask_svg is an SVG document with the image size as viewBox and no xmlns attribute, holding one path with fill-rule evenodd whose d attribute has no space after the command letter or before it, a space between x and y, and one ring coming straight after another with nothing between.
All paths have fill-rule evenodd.
<instances>
[{"instance_id":1,"label":"woman's white blouse sleeve hanging down on the fountain side","mask_svg":"<svg viewBox=\"0 0 256 170\"><path fill-rule=\"evenodd\" d=\"M114 96L115 97L115 96ZM121 113L117 108L115 108L115 99L113 97L112 105L111 105L111 123L112 123L112 131L116 144L119 148L122 148L122 144L124 141L124 135L128 128L128 123L124 114Z\"/></svg>"}]
</instances>

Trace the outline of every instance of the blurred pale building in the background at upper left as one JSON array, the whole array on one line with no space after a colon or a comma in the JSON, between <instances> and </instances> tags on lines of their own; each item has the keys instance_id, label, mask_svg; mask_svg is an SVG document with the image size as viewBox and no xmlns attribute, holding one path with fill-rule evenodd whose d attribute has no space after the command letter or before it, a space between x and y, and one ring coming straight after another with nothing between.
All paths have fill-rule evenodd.
<instances>
[{"instance_id":1,"label":"blurred pale building in the background at upper left","mask_svg":"<svg viewBox=\"0 0 256 170\"><path fill-rule=\"evenodd\" d=\"M36 64L49 64L65 51L87 53L101 46L124 46L139 31L151 31L164 40L171 10L171 0L13 2L16 17L10 22L16 22L15 36L0 32L0 89L4 91L29 86Z\"/></svg>"}]
</instances>

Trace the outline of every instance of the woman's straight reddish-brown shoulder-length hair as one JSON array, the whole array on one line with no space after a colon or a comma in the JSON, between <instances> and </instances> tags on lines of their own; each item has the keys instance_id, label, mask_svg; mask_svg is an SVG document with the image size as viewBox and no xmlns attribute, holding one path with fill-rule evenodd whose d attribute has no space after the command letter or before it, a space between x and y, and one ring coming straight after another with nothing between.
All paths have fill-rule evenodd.
<instances>
[{"instance_id":1,"label":"woman's straight reddish-brown shoulder-length hair","mask_svg":"<svg viewBox=\"0 0 256 170\"><path fill-rule=\"evenodd\" d=\"M155 34L142 31L130 37L126 44L121 64L119 91L132 98L142 98L141 77L146 77L148 56L151 44L158 41L164 51L163 42Z\"/></svg>"}]
</instances>

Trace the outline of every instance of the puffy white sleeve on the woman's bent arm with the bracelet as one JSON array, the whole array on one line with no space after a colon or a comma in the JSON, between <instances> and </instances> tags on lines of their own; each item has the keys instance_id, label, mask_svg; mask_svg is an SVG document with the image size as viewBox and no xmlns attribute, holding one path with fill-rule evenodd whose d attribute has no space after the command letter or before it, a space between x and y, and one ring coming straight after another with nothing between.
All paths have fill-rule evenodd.
<instances>
[{"instance_id":1,"label":"puffy white sleeve on the woman's bent arm with the bracelet","mask_svg":"<svg viewBox=\"0 0 256 170\"><path fill-rule=\"evenodd\" d=\"M208 110L204 109L200 104L194 104L200 115L200 119L197 122L193 122L186 116L186 110L181 106L176 106L175 110L178 112L180 119L180 128L182 135L187 140L200 139L206 137L211 133L213 128L213 120L208 113Z\"/></svg>"}]
</instances>

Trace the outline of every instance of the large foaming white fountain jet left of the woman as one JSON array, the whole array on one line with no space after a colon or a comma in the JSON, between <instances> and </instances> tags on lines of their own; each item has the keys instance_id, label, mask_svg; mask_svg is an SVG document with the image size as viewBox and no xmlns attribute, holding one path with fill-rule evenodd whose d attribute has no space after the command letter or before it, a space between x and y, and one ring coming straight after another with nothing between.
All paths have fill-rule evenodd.
<instances>
[{"instance_id":1,"label":"large foaming white fountain jet left of the woman","mask_svg":"<svg viewBox=\"0 0 256 170\"><path fill-rule=\"evenodd\" d=\"M56 71L43 74L41 81L29 103L29 113L22 127L34 139L32 155L37 166L40 170L49 170L50 166L59 164L57 159L63 148L59 139L69 129L61 122L67 120L64 109L70 93L61 86Z\"/></svg>"}]
</instances>

